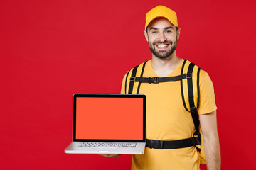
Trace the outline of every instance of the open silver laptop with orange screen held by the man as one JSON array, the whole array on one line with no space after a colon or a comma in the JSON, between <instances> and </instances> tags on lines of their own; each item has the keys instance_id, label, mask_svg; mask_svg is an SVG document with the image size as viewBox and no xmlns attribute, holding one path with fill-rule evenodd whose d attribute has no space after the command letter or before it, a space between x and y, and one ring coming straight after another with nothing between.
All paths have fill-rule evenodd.
<instances>
[{"instance_id":1,"label":"open silver laptop with orange screen held by the man","mask_svg":"<svg viewBox=\"0 0 256 170\"><path fill-rule=\"evenodd\" d=\"M68 154L144 154L146 96L74 94Z\"/></svg>"}]
</instances>

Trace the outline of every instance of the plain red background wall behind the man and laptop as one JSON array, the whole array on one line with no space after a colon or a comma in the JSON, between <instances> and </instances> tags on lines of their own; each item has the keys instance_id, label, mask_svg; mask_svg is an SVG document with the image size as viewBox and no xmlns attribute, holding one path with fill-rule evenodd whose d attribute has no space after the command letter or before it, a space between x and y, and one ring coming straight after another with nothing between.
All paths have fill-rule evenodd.
<instances>
[{"instance_id":1,"label":"plain red background wall behind the man and laptop","mask_svg":"<svg viewBox=\"0 0 256 170\"><path fill-rule=\"evenodd\" d=\"M255 1L0 1L0 169L130 169L131 156L64 154L74 93L119 93L151 58L144 16L178 13L177 55L215 85L223 169L256 169Z\"/></svg>"}]
</instances>

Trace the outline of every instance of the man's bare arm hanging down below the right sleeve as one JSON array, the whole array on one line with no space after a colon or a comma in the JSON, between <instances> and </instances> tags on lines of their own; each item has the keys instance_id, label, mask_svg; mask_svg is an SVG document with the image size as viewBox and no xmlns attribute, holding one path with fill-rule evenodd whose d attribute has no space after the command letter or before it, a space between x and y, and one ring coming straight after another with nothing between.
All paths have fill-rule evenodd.
<instances>
[{"instance_id":1,"label":"man's bare arm hanging down below the right sleeve","mask_svg":"<svg viewBox=\"0 0 256 170\"><path fill-rule=\"evenodd\" d=\"M216 111L199 115L203 133L203 145L208 170L220 170L220 143L217 130Z\"/></svg>"}]
</instances>

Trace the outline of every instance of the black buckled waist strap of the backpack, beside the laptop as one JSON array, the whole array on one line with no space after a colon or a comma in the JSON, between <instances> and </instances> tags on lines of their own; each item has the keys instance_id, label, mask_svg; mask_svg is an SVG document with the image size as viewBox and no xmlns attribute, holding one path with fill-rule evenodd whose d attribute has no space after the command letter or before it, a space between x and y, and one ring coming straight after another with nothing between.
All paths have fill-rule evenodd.
<instances>
[{"instance_id":1,"label":"black buckled waist strap of the backpack, beside the laptop","mask_svg":"<svg viewBox=\"0 0 256 170\"><path fill-rule=\"evenodd\" d=\"M146 139L146 147L154 149L178 149L183 147L196 147L200 145L197 137L191 137L185 140L148 140Z\"/></svg>"}]
</instances>

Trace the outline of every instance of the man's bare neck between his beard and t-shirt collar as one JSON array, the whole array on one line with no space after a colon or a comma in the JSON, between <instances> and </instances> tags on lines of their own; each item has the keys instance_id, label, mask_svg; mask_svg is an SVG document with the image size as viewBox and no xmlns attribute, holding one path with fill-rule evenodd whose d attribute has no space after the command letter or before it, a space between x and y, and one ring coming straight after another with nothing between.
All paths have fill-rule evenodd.
<instances>
[{"instance_id":1,"label":"man's bare neck between his beard and t-shirt collar","mask_svg":"<svg viewBox=\"0 0 256 170\"><path fill-rule=\"evenodd\" d=\"M178 66L178 64L181 62L181 58L179 58L176 55L176 51L172 55L170 55L167 58L159 58L156 57L154 54L152 55L151 65L154 69L154 72L159 77L166 77L171 72L174 71L174 69Z\"/></svg>"}]
</instances>

